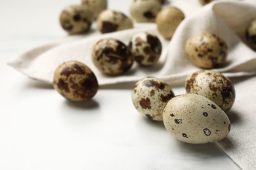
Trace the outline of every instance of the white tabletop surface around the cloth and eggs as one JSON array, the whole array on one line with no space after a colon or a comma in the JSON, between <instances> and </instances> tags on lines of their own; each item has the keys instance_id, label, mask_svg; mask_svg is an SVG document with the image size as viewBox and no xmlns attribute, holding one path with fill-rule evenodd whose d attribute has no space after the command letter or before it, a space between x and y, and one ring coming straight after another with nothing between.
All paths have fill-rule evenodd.
<instances>
[{"instance_id":1,"label":"white tabletop surface around the cloth and eggs","mask_svg":"<svg viewBox=\"0 0 256 170\"><path fill-rule=\"evenodd\" d=\"M131 0L108 2L129 15ZM67 37L58 16L79 3L0 1L0 169L239 169L215 143L181 143L142 117L131 103L133 84L104 86L93 100L72 103L7 65Z\"/></svg>"}]
</instances>

